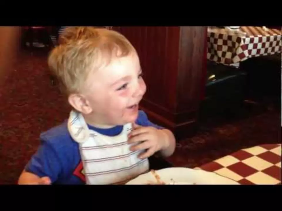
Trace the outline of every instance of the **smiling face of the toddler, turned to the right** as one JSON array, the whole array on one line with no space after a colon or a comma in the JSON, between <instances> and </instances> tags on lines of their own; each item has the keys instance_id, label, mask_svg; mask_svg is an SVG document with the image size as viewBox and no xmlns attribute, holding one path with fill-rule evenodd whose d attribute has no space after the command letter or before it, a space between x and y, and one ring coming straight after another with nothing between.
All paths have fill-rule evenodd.
<instances>
[{"instance_id":1,"label":"smiling face of the toddler, turned to the right","mask_svg":"<svg viewBox=\"0 0 282 211\"><path fill-rule=\"evenodd\" d=\"M122 125L134 122L138 104L146 92L138 55L114 58L111 63L87 79L87 100L91 119L99 125Z\"/></svg>"}]
</instances>

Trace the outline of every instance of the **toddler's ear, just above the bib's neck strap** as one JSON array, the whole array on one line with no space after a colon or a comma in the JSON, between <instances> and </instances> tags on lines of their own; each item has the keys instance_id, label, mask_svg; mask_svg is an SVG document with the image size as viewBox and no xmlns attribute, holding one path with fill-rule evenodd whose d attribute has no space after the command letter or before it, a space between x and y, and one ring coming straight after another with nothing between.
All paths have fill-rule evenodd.
<instances>
[{"instance_id":1,"label":"toddler's ear, just above the bib's neck strap","mask_svg":"<svg viewBox=\"0 0 282 211\"><path fill-rule=\"evenodd\" d=\"M83 114L89 114L92 112L92 108L89 101L81 94L70 94L68 96L69 104L77 111Z\"/></svg>"}]
</instances>

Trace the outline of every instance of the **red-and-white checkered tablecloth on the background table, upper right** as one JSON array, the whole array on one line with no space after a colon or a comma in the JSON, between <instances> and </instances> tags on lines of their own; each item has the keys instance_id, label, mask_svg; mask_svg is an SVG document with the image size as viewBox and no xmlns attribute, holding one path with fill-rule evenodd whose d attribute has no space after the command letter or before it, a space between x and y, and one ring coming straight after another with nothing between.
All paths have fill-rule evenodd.
<instances>
[{"instance_id":1,"label":"red-and-white checkered tablecloth on the background table, upper right","mask_svg":"<svg viewBox=\"0 0 282 211\"><path fill-rule=\"evenodd\" d=\"M281 31L248 26L236 31L208 28L207 59L225 65L281 53Z\"/></svg>"}]
</instances>

